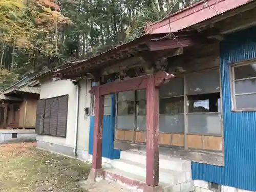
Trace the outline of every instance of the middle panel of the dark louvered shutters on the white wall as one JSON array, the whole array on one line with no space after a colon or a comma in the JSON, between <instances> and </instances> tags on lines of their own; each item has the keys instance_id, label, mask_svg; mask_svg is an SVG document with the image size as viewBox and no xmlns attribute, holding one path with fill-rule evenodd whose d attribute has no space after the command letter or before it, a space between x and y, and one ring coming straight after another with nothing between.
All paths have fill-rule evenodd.
<instances>
[{"instance_id":1,"label":"middle panel of the dark louvered shutters on the white wall","mask_svg":"<svg viewBox=\"0 0 256 192\"><path fill-rule=\"evenodd\" d=\"M57 119L58 119L58 97L49 99L51 100L51 117L50 117L50 130L49 135L57 135Z\"/></svg>"}]
</instances>

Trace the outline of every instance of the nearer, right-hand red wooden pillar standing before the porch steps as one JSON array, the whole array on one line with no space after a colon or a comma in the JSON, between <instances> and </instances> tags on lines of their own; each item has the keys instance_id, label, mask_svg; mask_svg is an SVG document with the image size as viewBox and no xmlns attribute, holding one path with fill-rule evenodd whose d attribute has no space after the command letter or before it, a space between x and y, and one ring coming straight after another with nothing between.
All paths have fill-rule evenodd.
<instances>
[{"instance_id":1,"label":"nearer, right-hand red wooden pillar standing before the porch steps","mask_svg":"<svg viewBox=\"0 0 256 192\"><path fill-rule=\"evenodd\" d=\"M159 183L159 88L155 76L148 75L146 86L146 185Z\"/></svg>"}]
</instances>

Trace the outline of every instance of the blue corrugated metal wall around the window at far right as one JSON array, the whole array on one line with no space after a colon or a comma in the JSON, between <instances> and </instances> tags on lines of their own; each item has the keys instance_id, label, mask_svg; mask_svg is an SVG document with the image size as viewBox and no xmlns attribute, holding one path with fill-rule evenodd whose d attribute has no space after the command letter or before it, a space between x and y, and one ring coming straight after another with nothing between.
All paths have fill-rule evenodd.
<instances>
[{"instance_id":1,"label":"blue corrugated metal wall around the window at far right","mask_svg":"<svg viewBox=\"0 0 256 192\"><path fill-rule=\"evenodd\" d=\"M192 163L194 180L256 190L256 112L231 112L229 63L256 58L256 28L229 35L220 45L224 167ZM255 101L256 102L256 101Z\"/></svg>"}]
</instances>

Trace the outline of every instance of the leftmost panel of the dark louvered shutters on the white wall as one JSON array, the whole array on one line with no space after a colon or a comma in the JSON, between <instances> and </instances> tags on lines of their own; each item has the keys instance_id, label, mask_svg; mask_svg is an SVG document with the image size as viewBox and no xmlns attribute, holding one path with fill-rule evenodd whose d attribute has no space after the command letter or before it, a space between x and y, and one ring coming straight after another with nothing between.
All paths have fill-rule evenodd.
<instances>
[{"instance_id":1,"label":"leftmost panel of the dark louvered shutters on the white wall","mask_svg":"<svg viewBox=\"0 0 256 192\"><path fill-rule=\"evenodd\" d=\"M36 107L36 121L35 121L35 133L38 135L43 134L44 129L44 115L45 115L45 99L37 101Z\"/></svg>"}]
</instances>

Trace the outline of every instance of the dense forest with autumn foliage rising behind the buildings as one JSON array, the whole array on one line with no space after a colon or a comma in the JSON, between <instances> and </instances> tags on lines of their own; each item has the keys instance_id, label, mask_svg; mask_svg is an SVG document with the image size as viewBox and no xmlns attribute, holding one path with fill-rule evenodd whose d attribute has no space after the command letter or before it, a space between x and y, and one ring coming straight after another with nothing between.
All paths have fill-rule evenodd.
<instances>
[{"instance_id":1,"label":"dense forest with autumn foliage rising behind the buildings","mask_svg":"<svg viewBox=\"0 0 256 192\"><path fill-rule=\"evenodd\" d=\"M100 54L199 0L0 0L0 90Z\"/></svg>"}]
</instances>

